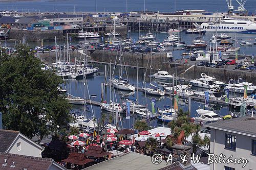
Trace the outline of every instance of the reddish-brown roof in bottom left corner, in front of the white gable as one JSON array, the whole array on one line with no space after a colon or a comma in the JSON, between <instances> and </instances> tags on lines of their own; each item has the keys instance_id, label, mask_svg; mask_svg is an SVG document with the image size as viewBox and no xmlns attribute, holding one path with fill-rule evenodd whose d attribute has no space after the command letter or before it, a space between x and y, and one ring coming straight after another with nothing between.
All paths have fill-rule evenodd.
<instances>
[{"instance_id":1,"label":"reddish-brown roof in bottom left corner, in front of the white gable","mask_svg":"<svg viewBox=\"0 0 256 170\"><path fill-rule=\"evenodd\" d=\"M4 159L7 159L7 165L3 166ZM28 170L47 170L53 164L51 158L38 158L32 156L16 155L0 153L0 169L3 170L14 170L14 169L28 169ZM15 161L15 167L10 167L12 161ZM60 168L56 168L60 169ZM63 168L65 169L65 168Z\"/></svg>"}]
</instances>

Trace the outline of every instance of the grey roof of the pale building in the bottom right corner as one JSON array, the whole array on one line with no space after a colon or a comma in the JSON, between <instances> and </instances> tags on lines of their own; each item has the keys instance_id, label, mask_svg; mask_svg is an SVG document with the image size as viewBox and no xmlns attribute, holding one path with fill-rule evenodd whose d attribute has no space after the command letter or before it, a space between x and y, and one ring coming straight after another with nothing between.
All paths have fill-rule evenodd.
<instances>
[{"instance_id":1,"label":"grey roof of the pale building in the bottom right corner","mask_svg":"<svg viewBox=\"0 0 256 170\"><path fill-rule=\"evenodd\" d=\"M205 125L205 127L243 133L247 136L256 136L256 118L250 116L220 120L216 123Z\"/></svg>"}]
</instances>

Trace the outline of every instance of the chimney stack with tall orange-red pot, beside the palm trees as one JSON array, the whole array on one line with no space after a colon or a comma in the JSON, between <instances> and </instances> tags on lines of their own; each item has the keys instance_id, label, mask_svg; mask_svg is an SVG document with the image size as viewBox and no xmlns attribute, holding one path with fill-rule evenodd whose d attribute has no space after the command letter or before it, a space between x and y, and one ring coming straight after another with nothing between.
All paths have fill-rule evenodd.
<instances>
[{"instance_id":1,"label":"chimney stack with tall orange-red pot, beside the palm trees","mask_svg":"<svg viewBox=\"0 0 256 170\"><path fill-rule=\"evenodd\" d=\"M184 139L184 136L185 136L185 134L184 134L184 131L182 130L180 132L179 137L178 137L177 144L175 144L172 147L172 149L173 149L173 161L174 162L180 162L180 164L184 168L187 168L187 167L191 166L191 163L190 163L190 155L191 155L190 149L191 149L191 147L182 144L182 140ZM185 155L186 155L186 157L185 157L186 161L183 162L183 163L182 163L182 159L181 159L183 157L181 157L181 154L183 154L183 157L185 157Z\"/></svg>"}]
</instances>

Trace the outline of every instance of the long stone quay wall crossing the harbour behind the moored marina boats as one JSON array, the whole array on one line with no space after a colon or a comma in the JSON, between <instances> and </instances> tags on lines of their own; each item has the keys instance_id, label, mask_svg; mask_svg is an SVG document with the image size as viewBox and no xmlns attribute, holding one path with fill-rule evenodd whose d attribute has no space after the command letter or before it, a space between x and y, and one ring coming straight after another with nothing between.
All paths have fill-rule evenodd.
<instances>
[{"instance_id":1,"label":"long stone quay wall crossing the harbour behind the moored marina boats","mask_svg":"<svg viewBox=\"0 0 256 170\"><path fill-rule=\"evenodd\" d=\"M87 53L91 56L91 59L94 61L100 62L111 62L115 63L116 56L120 55L117 52L113 51L101 51L101 50L92 50ZM55 62L55 53L38 53L39 57L42 61L46 63L53 63ZM63 56L63 55L62 55ZM67 55L66 55L67 56ZM79 60L81 54L77 51L70 52L70 59L71 61L75 60L77 57L77 61ZM123 58L125 60L126 65L133 65L136 66L136 59L138 59L138 66L144 68L150 68L150 63L152 63L152 68L156 72L157 70L166 70L169 74L175 74L177 70L177 76L185 79L197 79L200 78L200 74L204 72L209 76L214 76L217 80L223 81L227 83L230 78L237 80L238 78L242 78L247 82L251 82L256 84L256 72L244 71L244 70L234 70L230 68L210 68L210 67L202 67L196 65L188 65L188 64L181 64L181 63L167 63L168 58L166 57L166 53L155 53L152 56L152 61L150 59L149 54L141 54L141 53L128 53L123 52ZM88 59L88 60L91 60ZM119 63L119 61L117 61ZM123 61L122 61L123 63ZM177 68L175 67L177 65ZM193 67L191 67L193 66ZM190 68L191 67L191 68ZM190 69L188 69L190 68ZM150 73L149 69L147 71L147 75Z\"/></svg>"}]
</instances>

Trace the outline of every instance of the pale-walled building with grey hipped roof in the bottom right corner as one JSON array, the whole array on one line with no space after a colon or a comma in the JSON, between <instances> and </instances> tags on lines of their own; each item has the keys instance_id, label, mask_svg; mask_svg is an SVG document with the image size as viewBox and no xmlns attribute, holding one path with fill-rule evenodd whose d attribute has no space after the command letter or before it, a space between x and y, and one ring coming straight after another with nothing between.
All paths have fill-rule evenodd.
<instances>
[{"instance_id":1,"label":"pale-walled building with grey hipped roof in the bottom right corner","mask_svg":"<svg viewBox=\"0 0 256 170\"><path fill-rule=\"evenodd\" d=\"M210 128L210 153L218 156L223 154L221 160L230 159L248 159L248 163L244 168L244 163L211 163L210 169L255 169L256 158L256 119L246 116L232 118L224 121L219 121L209 125Z\"/></svg>"}]
</instances>

